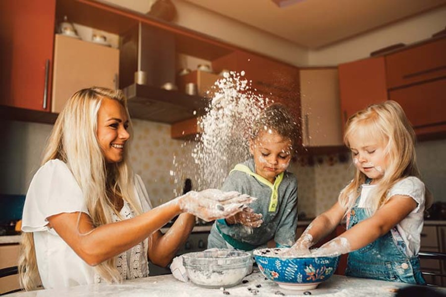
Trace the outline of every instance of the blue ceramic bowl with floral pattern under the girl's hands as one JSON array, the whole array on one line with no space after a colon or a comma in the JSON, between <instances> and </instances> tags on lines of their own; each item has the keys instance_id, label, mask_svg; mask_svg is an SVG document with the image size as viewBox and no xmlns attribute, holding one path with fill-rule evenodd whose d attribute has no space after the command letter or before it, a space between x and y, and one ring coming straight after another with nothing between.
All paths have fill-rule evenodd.
<instances>
[{"instance_id":1,"label":"blue ceramic bowl with floral pattern under the girl's hands","mask_svg":"<svg viewBox=\"0 0 446 297\"><path fill-rule=\"evenodd\" d=\"M263 275L287 290L316 289L333 275L339 262L339 256L279 257L282 249L257 249L254 257Z\"/></svg>"}]
</instances>

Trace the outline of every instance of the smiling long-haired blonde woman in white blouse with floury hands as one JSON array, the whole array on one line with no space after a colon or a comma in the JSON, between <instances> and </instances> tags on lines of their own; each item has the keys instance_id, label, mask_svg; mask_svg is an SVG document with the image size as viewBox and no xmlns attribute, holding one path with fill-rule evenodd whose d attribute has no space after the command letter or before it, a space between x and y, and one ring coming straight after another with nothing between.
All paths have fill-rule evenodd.
<instances>
[{"instance_id":1,"label":"smiling long-haired blonde woman in white blouse with floury hands","mask_svg":"<svg viewBox=\"0 0 446 297\"><path fill-rule=\"evenodd\" d=\"M67 101L25 200L19 270L26 290L145 277L148 260L170 262L194 215L226 217L253 200L210 189L152 209L127 164L130 134L120 91L93 87Z\"/></svg>"}]
</instances>

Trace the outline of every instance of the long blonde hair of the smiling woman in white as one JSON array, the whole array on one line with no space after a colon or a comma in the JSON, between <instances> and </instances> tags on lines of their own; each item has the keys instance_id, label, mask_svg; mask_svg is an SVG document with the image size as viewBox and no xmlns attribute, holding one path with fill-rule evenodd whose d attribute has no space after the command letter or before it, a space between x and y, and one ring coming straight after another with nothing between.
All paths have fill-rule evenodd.
<instances>
[{"instance_id":1,"label":"long blonde hair of the smiling woman in white","mask_svg":"<svg viewBox=\"0 0 446 297\"><path fill-rule=\"evenodd\" d=\"M53 159L67 164L82 190L95 227L111 223L111 212L119 216L113 204L116 197L127 201L135 214L142 213L134 194L127 149L121 162L107 164L97 139L98 111L104 98L117 100L125 108L131 134L127 103L121 91L101 87L83 89L68 99L57 117L42 160L42 165ZM114 258L95 266L95 269L106 281L121 281ZM19 273L25 290L40 285L33 233L22 235Z\"/></svg>"}]
</instances>

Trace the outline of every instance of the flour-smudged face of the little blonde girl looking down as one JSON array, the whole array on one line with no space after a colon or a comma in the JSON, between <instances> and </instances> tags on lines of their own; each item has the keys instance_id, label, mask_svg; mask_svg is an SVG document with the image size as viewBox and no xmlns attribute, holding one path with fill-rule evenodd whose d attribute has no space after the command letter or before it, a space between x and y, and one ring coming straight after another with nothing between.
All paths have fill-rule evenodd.
<instances>
[{"instance_id":1,"label":"flour-smudged face of the little blonde girl looking down","mask_svg":"<svg viewBox=\"0 0 446 297\"><path fill-rule=\"evenodd\" d=\"M388 165L385 143L358 131L351 134L348 143L356 168L373 179L372 183L381 179Z\"/></svg>"}]
</instances>

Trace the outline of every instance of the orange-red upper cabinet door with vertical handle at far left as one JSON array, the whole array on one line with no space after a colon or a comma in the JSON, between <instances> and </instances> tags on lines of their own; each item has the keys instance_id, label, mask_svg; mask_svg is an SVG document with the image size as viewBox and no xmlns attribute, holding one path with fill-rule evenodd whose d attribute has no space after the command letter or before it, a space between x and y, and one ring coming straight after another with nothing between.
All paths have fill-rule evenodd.
<instances>
[{"instance_id":1,"label":"orange-red upper cabinet door with vertical handle at far left","mask_svg":"<svg viewBox=\"0 0 446 297\"><path fill-rule=\"evenodd\" d=\"M50 110L56 0L2 0L1 104Z\"/></svg>"}]
</instances>

